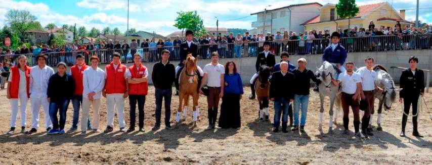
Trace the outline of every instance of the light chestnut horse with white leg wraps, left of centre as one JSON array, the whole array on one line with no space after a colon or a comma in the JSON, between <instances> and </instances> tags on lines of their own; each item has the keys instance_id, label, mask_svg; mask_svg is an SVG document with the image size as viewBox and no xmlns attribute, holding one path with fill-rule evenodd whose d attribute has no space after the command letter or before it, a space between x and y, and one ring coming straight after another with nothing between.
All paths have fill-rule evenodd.
<instances>
[{"instance_id":1,"label":"light chestnut horse with white leg wraps, left of centre","mask_svg":"<svg viewBox=\"0 0 432 165\"><path fill-rule=\"evenodd\" d=\"M180 73L179 84L179 109L176 116L177 124L180 121L186 120L187 112L188 112L188 103L189 96L192 96L193 99L193 126L191 129L195 128L196 121L199 118L199 108L198 108L198 75L197 72L197 59L195 59L192 54L188 54L186 57L186 64ZM184 104L184 106L183 106ZM183 108L183 115L182 115Z\"/></svg>"}]
</instances>

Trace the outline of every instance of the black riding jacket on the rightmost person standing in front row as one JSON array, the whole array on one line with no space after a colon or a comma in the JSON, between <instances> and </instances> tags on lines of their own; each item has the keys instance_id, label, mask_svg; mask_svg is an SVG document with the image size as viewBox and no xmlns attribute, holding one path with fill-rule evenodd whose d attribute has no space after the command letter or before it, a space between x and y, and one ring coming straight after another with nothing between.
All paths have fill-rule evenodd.
<instances>
[{"instance_id":1,"label":"black riding jacket on the rightmost person standing in front row","mask_svg":"<svg viewBox=\"0 0 432 165\"><path fill-rule=\"evenodd\" d=\"M401 98L418 96L420 92L424 92L424 73L420 69L416 69L415 75L412 74L410 69L402 71L399 80Z\"/></svg>"}]
</instances>

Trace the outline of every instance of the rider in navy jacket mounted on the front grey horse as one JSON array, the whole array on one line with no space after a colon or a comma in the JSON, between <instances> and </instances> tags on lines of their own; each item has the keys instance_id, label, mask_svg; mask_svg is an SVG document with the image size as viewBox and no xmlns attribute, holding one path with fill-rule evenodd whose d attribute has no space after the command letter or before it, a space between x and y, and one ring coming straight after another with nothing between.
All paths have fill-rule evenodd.
<instances>
[{"instance_id":1,"label":"rider in navy jacket mounted on the front grey horse","mask_svg":"<svg viewBox=\"0 0 432 165\"><path fill-rule=\"evenodd\" d=\"M343 64L347 60L347 51L339 44L340 34L337 32L331 33L331 44L324 49L323 62L327 61L333 64L338 73L345 72ZM337 79L337 76L335 77ZM314 91L318 91L318 84L315 86Z\"/></svg>"}]
</instances>

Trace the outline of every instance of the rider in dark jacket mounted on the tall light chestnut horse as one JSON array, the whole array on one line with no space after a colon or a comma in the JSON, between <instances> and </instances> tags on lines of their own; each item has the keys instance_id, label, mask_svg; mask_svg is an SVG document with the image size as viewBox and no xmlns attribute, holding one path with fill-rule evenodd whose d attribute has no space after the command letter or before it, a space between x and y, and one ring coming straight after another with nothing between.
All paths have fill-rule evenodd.
<instances>
[{"instance_id":1,"label":"rider in dark jacket mounted on the tall light chestnut horse","mask_svg":"<svg viewBox=\"0 0 432 165\"><path fill-rule=\"evenodd\" d=\"M180 63L176 67L176 81L175 81L176 95L179 95L179 79L181 75L180 72L185 66L186 57L188 56L188 54L191 53L194 58L197 58L198 45L192 41L193 37L194 37L194 32L192 30L187 30L186 41L180 44ZM199 66L197 66L197 70L199 72L198 74L198 86L199 86L202 76L204 75L204 72Z\"/></svg>"}]
</instances>

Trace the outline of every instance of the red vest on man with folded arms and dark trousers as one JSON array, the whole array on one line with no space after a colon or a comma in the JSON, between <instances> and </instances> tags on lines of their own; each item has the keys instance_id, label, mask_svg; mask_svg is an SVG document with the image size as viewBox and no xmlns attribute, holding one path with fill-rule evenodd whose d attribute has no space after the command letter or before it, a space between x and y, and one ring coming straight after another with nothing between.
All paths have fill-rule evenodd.
<instances>
[{"instance_id":1,"label":"red vest on man with folded arms and dark trousers","mask_svg":"<svg viewBox=\"0 0 432 165\"><path fill-rule=\"evenodd\" d=\"M147 68L145 66L141 65L140 69L137 70L137 67L134 64L133 66L129 67L129 72L131 72L132 78L142 78L146 69ZM129 94L147 95L147 89L147 82L142 82L139 84L129 84Z\"/></svg>"}]
</instances>

